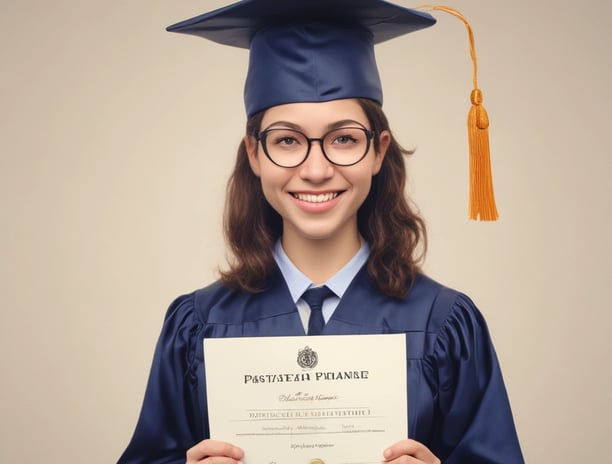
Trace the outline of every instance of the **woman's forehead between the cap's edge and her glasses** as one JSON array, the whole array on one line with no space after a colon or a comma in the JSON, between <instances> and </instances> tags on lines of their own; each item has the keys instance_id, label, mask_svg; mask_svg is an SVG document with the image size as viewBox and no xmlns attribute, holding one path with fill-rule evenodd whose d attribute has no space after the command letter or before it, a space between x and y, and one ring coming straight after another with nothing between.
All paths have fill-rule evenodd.
<instances>
[{"instance_id":1,"label":"woman's forehead between the cap's edge and her glasses","mask_svg":"<svg viewBox=\"0 0 612 464\"><path fill-rule=\"evenodd\" d=\"M290 122L304 130L323 130L338 121L355 121L368 127L368 118L355 99L316 103L289 103L266 110L262 127Z\"/></svg>"}]
</instances>

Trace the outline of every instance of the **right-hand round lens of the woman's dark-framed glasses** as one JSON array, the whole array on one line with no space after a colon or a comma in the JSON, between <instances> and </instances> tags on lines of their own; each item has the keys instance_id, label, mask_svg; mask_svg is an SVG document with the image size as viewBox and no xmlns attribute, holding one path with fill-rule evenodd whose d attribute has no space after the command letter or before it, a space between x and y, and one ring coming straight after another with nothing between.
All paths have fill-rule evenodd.
<instances>
[{"instance_id":1,"label":"right-hand round lens of the woman's dark-framed glasses","mask_svg":"<svg viewBox=\"0 0 612 464\"><path fill-rule=\"evenodd\" d=\"M343 127L328 132L323 139L323 149L334 164L348 166L365 156L370 145L368 132L360 127Z\"/></svg>"}]
</instances>

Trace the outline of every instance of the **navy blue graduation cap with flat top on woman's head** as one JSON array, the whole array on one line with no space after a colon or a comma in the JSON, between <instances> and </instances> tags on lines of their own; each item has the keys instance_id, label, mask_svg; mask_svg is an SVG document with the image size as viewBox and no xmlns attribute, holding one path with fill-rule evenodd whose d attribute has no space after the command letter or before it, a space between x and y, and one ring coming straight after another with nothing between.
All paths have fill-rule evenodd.
<instances>
[{"instance_id":1,"label":"navy blue graduation cap with flat top on woman's head","mask_svg":"<svg viewBox=\"0 0 612 464\"><path fill-rule=\"evenodd\" d=\"M249 49L244 101L250 117L286 103L367 98L382 105L374 45L435 22L428 13L384 0L242 0L167 30ZM471 37L469 25L468 31ZM473 194L472 180L483 176L473 171L471 161L471 198L482 197ZM492 214L471 202L472 219L497 218L492 195L491 186Z\"/></svg>"}]
</instances>

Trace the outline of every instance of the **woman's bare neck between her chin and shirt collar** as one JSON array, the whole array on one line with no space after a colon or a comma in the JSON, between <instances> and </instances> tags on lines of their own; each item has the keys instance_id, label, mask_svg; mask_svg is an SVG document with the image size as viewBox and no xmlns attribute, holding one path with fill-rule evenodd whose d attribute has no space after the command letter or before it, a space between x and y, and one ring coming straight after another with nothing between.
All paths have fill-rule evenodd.
<instances>
[{"instance_id":1,"label":"woman's bare neck between her chin and shirt collar","mask_svg":"<svg viewBox=\"0 0 612 464\"><path fill-rule=\"evenodd\" d=\"M361 247L361 236L305 239L283 234L283 249L291 262L315 285L321 285L348 263Z\"/></svg>"}]
</instances>

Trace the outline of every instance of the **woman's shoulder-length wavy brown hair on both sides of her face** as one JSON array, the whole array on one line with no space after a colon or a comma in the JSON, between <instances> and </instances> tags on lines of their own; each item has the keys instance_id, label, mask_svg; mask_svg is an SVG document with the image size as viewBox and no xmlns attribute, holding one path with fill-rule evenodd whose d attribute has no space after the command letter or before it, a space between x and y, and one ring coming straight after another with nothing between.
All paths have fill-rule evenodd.
<instances>
[{"instance_id":1,"label":"woman's shoulder-length wavy brown hair on both sides of her face","mask_svg":"<svg viewBox=\"0 0 612 464\"><path fill-rule=\"evenodd\" d=\"M357 100L371 129L380 134L389 123L377 103ZM247 121L246 133L257 135L264 112ZM379 139L374 138L378 150ZM405 298L427 249L425 223L405 194L406 165L403 149L391 135L391 143L380 172L357 213L359 232L371 248L368 273L385 295ZM244 141L238 148L234 171L227 184L224 232L229 247L229 268L221 270L222 281L230 288L247 292L266 289L275 268L272 249L281 236L282 218L266 201L261 183L249 165Z\"/></svg>"}]
</instances>

